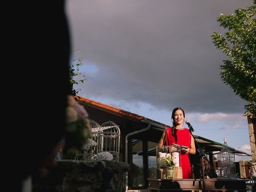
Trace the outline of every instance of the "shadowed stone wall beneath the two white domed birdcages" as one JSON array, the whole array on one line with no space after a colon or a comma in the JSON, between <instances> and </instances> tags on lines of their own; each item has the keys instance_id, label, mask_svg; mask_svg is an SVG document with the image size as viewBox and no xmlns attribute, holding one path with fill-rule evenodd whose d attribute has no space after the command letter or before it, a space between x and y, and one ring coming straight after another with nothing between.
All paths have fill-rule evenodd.
<instances>
[{"instance_id":1,"label":"shadowed stone wall beneath the two white domed birdcages","mask_svg":"<svg viewBox=\"0 0 256 192\"><path fill-rule=\"evenodd\" d=\"M60 160L58 166L49 169L44 177L33 177L33 192L94 192L101 188L102 170L112 168L113 189L125 192L126 171L130 169L124 162Z\"/></svg>"}]
</instances>

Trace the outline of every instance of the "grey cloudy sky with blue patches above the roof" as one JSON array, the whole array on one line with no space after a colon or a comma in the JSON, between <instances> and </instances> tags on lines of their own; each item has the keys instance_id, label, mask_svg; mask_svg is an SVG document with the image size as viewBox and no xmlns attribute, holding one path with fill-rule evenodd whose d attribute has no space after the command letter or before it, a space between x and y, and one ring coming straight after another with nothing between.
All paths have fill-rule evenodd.
<instances>
[{"instance_id":1,"label":"grey cloudy sky with blue patches above the roof","mask_svg":"<svg viewBox=\"0 0 256 192\"><path fill-rule=\"evenodd\" d=\"M171 125L181 106L194 134L250 153L246 102L220 78L212 44L223 14L252 0L67 0L79 95Z\"/></svg>"}]
</instances>

